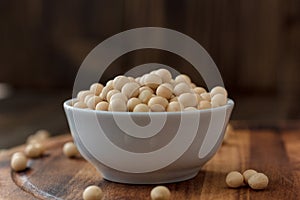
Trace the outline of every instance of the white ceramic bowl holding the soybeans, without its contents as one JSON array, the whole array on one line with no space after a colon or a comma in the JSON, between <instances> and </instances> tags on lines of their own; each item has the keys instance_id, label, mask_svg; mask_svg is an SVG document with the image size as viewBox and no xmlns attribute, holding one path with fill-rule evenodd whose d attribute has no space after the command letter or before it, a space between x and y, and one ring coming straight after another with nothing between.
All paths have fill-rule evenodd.
<instances>
[{"instance_id":1,"label":"white ceramic bowl holding the soybeans, without its contents","mask_svg":"<svg viewBox=\"0 0 300 200\"><path fill-rule=\"evenodd\" d=\"M184 112L106 112L64 103L80 153L110 181L158 184L196 176L220 147L234 106Z\"/></svg>"}]
</instances>

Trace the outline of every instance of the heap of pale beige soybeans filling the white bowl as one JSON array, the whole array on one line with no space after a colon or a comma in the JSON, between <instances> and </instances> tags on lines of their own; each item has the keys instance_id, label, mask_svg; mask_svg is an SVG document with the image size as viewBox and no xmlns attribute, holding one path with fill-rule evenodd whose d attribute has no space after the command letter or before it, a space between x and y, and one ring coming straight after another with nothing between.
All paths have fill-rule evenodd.
<instances>
[{"instance_id":1,"label":"heap of pale beige soybeans filling the white bowl","mask_svg":"<svg viewBox=\"0 0 300 200\"><path fill-rule=\"evenodd\" d=\"M167 69L158 69L133 78L123 75L105 86L94 83L78 92L76 108L117 112L176 112L215 108L227 104L227 91L221 86L210 92L179 74L174 79Z\"/></svg>"}]
</instances>

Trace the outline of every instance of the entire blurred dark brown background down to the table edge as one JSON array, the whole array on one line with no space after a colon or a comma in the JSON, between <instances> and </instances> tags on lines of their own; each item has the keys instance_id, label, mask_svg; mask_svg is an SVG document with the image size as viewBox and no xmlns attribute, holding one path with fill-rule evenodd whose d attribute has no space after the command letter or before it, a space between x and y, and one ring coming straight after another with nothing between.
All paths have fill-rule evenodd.
<instances>
[{"instance_id":1,"label":"entire blurred dark brown background down to the table edge","mask_svg":"<svg viewBox=\"0 0 300 200\"><path fill-rule=\"evenodd\" d=\"M85 56L143 26L185 33L210 53L236 102L233 119L300 118L299 0L1 0L0 83L13 90L0 99L0 148L39 128L67 131L61 104ZM114 62L105 78L153 61L190 72L174 55L141 50Z\"/></svg>"}]
</instances>

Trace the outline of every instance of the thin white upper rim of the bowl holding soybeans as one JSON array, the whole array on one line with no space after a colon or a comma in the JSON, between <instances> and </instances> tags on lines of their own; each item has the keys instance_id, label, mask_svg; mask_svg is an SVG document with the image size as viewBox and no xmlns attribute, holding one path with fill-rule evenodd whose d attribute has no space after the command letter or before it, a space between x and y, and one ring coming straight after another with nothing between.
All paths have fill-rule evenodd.
<instances>
[{"instance_id":1,"label":"thin white upper rim of the bowl holding soybeans","mask_svg":"<svg viewBox=\"0 0 300 200\"><path fill-rule=\"evenodd\" d=\"M99 113L99 114L118 114L118 115L177 115L177 114L183 114L183 113L210 113L213 111L218 111L218 110L222 110L222 109L229 109L230 107L234 106L234 101L232 99L227 100L227 104L223 105L223 106L219 106L216 108L208 108L208 109L203 109L203 110L191 110L191 111L176 111L176 112L119 112L119 111L102 111L102 110L92 110L92 109L82 109L82 108L75 108L73 106L70 105L70 103L74 100L77 100L77 98L73 98L73 99L68 99L66 101L64 101L63 103L63 107L65 109L69 109L69 110L74 110L74 111L81 111L81 112L90 112L90 113Z\"/></svg>"}]
</instances>

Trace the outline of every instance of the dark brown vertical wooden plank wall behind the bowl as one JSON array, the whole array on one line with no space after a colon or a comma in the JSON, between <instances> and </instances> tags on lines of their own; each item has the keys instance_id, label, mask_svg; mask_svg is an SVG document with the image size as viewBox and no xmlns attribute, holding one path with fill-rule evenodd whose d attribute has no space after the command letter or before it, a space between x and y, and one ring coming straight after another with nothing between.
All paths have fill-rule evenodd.
<instances>
[{"instance_id":1,"label":"dark brown vertical wooden plank wall behind the bowl","mask_svg":"<svg viewBox=\"0 0 300 200\"><path fill-rule=\"evenodd\" d=\"M0 23L0 82L16 87L71 88L84 57L105 38L162 26L202 44L233 94L278 95L294 102L300 93L298 0L3 0ZM137 54L119 67L166 58ZM182 63L179 68L185 69Z\"/></svg>"}]
</instances>

